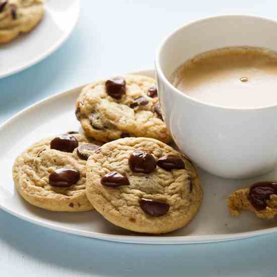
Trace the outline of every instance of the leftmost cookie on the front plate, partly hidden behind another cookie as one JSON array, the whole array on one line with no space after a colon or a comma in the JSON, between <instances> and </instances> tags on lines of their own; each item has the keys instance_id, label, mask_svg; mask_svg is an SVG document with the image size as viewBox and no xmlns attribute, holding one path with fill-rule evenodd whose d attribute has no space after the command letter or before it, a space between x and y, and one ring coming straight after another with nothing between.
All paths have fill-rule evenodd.
<instances>
[{"instance_id":1,"label":"leftmost cookie on the front plate, partly hidden behind another cookie","mask_svg":"<svg viewBox=\"0 0 277 277\"><path fill-rule=\"evenodd\" d=\"M86 163L100 145L77 132L33 144L14 163L17 190L29 203L46 210L92 210L85 193Z\"/></svg>"}]
</instances>

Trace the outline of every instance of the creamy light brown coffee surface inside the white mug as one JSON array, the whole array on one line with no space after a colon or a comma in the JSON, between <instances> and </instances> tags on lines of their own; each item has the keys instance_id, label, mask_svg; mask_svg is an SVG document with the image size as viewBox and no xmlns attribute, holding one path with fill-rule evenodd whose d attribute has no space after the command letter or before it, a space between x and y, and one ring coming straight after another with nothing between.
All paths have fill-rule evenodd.
<instances>
[{"instance_id":1,"label":"creamy light brown coffee surface inside the white mug","mask_svg":"<svg viewBox=\"0 0 277 277\"><path fill-rule=\"evenodd\" d=\"M179 66L170 82L209 104L232 108L277 104L277 54L253 47L204 52Z\"/></svg>"}]
</instances>

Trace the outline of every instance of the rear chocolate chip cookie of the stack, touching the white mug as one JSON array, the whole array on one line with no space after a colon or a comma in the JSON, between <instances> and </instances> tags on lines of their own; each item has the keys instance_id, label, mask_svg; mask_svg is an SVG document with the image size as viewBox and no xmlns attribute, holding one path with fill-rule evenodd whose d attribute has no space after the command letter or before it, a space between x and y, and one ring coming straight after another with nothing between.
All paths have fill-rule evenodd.
<instances>
[{"instance_id":1,"label":"rear chocolate chip cookie of the stack, touching the white mug","mask_svg":"<svg viewBox=\"0 0 277 277\"><path fill-rule=\"evenodd\" d=\"M76 103L76 117L86 134L109 142L122 137L171 138L159 107L156 82L128 75L86 86Z\"/></svg>"}]
</instances>

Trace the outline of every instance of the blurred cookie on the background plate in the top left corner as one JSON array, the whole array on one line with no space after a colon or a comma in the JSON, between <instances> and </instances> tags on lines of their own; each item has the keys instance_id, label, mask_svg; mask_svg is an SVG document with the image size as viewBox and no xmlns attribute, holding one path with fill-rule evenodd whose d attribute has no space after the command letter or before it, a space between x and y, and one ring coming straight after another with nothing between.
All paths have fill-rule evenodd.
<instances>
[{"instance_id":1,"label":"blurred cookie on the background plate in the top left corner","mask_svg":"<svg viewBox=\"0 0 277 277\"><path fill-rule=\"evenodd\" d=\"M0 0L0 43L31 31L43 14L42 0Z\"/></svg>"}]
</instances>

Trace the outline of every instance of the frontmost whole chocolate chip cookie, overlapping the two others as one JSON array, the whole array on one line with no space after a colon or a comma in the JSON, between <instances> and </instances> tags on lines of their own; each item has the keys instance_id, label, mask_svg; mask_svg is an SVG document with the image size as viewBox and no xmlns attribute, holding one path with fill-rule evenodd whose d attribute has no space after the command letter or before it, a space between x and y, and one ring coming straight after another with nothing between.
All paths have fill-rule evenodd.
<instances>
[{"instance_id":1,"label":"frontmost whole chocolate chip cookie, overlapping the two others","mask_svg":"<svg viewBox=\"0 0 277 277\"><path fill-rule=\"evenodd\" d=\"M121 138L96 150L87 162L86 193L111 223L153 234L185 226L202 200L193 164L146 137Z\"/></svg>"}]
</instances>

